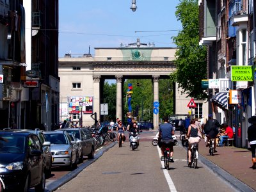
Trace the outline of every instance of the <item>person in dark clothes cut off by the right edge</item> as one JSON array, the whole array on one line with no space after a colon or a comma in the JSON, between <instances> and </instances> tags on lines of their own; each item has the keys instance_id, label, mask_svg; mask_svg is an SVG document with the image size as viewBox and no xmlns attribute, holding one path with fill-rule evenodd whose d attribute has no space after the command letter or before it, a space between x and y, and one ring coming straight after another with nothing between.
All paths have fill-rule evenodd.
<instances>
[{"instance_id":1,"label":"person in dark clothes cut off by the right edge","mask_svg":"<svg viewBox=\"0 0 256 192\"><path fill-rule=\"evenodd\" d=\"M248 127L248 141L251 146L252 152L252 168L256 168L256 156L255 156L255 148L256 148L256 116L252 116L248 119L248 122L252 125Z\"/></svg>"}]
</instances>

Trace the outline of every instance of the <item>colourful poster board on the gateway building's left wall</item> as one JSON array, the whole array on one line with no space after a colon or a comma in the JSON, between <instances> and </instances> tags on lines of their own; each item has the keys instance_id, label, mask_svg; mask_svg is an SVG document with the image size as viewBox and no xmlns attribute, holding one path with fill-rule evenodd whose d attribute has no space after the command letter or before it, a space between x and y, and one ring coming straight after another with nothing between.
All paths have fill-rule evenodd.
<instances>
[{"instance_id":1,"label":"colourful poster board on the gateway building's left wall","mask_svg":"<svg viewBox=\"0 0 256 192\"><path fill-rule=\"evenodd\" d=\"M68 113L92 113L93 97L68 97Z\"/></svg>"}]
</instances>

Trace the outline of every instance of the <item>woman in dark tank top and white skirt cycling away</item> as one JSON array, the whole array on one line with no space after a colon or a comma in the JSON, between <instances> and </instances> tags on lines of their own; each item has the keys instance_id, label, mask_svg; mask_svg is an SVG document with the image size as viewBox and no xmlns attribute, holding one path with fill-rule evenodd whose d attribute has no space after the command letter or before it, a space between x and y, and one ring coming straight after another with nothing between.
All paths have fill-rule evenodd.
<instances>
[{"instance_id":1,"label":"woman in dark tank top and white skirt cycling away","mask_svg":"<svg viewBox=\"0 0 256 192\"><path fill-rule=\"evenodd\" d=\"M199 134L198 134L199 132ZM196 121L194 119L190 120L190 125L188 126L188 133L187 133L187 138L189 138L189 145L188 145L188 165L190 166L191 164L191 147L192 144L194 143L199 143L200 141L200 136L202 136L202 132L200 131L198 125L196 125Z\"/></svg>"}]
</instances>

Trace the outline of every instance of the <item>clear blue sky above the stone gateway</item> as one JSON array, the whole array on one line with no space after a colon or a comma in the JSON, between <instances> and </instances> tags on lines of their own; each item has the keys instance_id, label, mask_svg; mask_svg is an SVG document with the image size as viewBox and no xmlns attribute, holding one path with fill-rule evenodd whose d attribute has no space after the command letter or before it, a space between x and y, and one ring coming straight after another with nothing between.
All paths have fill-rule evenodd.
<instances>
[{"instance_id":1,"label":"clear blue sky above the stone gateway","mask_svg":"<svg viewBox=\"0 0 256 192\"><path fill-rule=\"evenodd\" d=\"M179 0L60 0L59 58L94 54L95 47L154 43L155 47L176 47L172 36L182 26L175 16Z\"/></svg>"}]
</instances>

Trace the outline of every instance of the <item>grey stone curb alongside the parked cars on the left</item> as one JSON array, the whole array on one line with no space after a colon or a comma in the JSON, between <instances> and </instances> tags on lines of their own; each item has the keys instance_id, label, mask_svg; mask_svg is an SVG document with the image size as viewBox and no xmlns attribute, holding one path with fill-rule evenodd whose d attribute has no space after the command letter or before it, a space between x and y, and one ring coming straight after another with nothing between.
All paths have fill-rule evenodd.
<instances>
[{"instance_id":1,"label":"grey stone curb alongside the parked cars on the left","mask_svg":"<svg viewBox=\"0 0 256 192\"><path fill-rule=\"evenodd\" d=\"M116 141L108 145L106 148L100 149L99 152L95 154L94 159L88 159L88 161L84 162L83 164L81 164L81 166L77 167L76 170L73 170L72 172L67 173L67 175L64 175L63 177L61 177L60 179L57 179L54 182L51 182L49 185L45 186L44 191L52 192L60 188L60 186L63 186L63 184L67 183L69 180L76 177L76 175L82 172L84 168L86 168L93 162L97 161L97 159L99 159L99 157L101 157L104 154L104 152L107 152L109 148L114 147L115 144L116 144Z\"/></svg>"}]
</instances>

